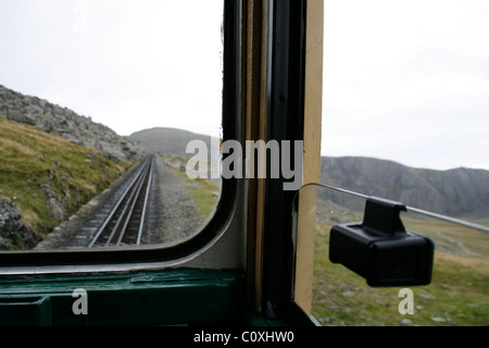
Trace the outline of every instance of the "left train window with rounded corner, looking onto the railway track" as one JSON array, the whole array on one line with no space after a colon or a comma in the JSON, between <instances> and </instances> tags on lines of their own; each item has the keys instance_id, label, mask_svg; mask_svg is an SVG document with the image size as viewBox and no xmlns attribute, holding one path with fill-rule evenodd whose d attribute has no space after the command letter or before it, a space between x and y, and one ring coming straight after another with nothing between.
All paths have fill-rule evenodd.
<instances>
[{"instance_id":1,"label":"left train window with rounded corner, looking onto the railway track","mask_svg":"<svg viewBox=\"0 0 489 348\"><path fill-rule=\"evenodd\" d=\"M225 7L0 4L0 253L185 249L231 206L218 175L235 132Z\"/></svg>"}]
</instances>

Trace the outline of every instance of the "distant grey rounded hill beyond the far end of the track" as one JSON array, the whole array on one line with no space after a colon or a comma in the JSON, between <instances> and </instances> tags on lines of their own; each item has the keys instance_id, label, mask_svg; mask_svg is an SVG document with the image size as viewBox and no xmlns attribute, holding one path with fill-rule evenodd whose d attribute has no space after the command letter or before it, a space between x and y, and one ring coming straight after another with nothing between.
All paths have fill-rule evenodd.
<instances>
[{"instance_id":1,"label":"distant grey rounded hill beyond the far end of the track","mask_svg":"<svg viewBox=\"0 0 489 348\"><path fill-rule=\"evenodd\" d=\"M191 153L186 153L187 145L189 141L202 140L206 144L208 149L210 150L212 139L212 137L209 135L165 127L156 127L136 132L129 137L138 140L139 144L141 144L149 152L183 157L192 156Z\"/></svg>"}]
</instances>

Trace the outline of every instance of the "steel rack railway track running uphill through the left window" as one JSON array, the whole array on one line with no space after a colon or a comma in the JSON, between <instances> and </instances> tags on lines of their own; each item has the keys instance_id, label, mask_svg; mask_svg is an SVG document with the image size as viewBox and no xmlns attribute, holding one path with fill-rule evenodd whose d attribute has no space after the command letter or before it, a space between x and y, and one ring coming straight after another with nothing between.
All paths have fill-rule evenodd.
<instances>
[{"instance_id":1,"label":"steel rack railway track running uphill through the left window","mask_svg":"<svg viewBox=\"0 0 489 348\"><path fill-rule=\"evenodd\" d=\"M89 248L140 245L145 231L154 157L146 158L97 229Z\"/></svg>"}]
</instances>

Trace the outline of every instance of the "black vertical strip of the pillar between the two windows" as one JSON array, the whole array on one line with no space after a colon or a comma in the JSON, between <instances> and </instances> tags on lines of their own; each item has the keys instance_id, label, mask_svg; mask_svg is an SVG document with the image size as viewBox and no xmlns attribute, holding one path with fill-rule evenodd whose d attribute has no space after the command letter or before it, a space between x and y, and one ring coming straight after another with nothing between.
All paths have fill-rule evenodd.
<instances>
[{"instance_id":1,"label":"black vertical strip of the pillar between the two windows","mask_svg":"<svg viewBox=\"0 0 489 348\"><path fill-rule=\"evenodd\" d=\"M308 1L269 0L269 8L268 137L305 141ZM292 223L297 191L283 190L284 182L284 177L266 179L261 311L268 320L314 326L294 298L296 263L305 254L298 253Z\"/></svg>"}]
</instances>

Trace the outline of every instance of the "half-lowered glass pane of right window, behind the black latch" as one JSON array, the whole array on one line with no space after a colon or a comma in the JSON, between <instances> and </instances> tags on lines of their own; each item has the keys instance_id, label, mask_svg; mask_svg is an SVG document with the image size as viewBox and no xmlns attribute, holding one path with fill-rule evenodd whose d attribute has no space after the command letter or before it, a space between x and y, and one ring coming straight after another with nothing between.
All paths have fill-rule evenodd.
<instances>
[{"instance_id":1,"label":"half-lowered glass pane of right window, behind the black latch","mask_svg":"<svg viewBox=\"0 0 489 348\"><path fill-rule=\"evenodd\" d=\"M487 325L489 226L408 207L406 231L435 243L432 278L424 286L371 287L331 262L331 227L361 223L366 197L330 186L308 186L317 197L311 312L325 326ZM402 266L402 265L400 265Z\"/></svg>"}]
</instances>

